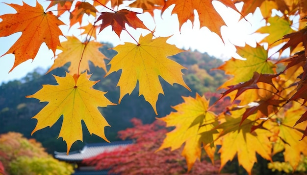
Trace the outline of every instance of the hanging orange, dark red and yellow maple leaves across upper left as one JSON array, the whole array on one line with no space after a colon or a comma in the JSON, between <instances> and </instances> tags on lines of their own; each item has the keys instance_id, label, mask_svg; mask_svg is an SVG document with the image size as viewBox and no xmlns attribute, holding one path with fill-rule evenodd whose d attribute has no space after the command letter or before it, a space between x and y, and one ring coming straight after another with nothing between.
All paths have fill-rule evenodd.
<instances>
[{"instance_id":1,"label":"hanging orange, dark red and yellow maple leaves across upper left","mask_svg":"<svg viewBox=\"0 0 307 175\"><path fill-rule=\"evenodd\" d=\"M139 13L131 10L131 7L135 7L143 9L144 13L149 12L153 15L154 9L161 9L163 13L165 9L177 2L165 2L164 0L154 2L137 1L130 3L129 7L127 7L123 1L112 0L111 4L108 4L109 0L50 1L51 3L47 7L47 11L44 10L40 3L36 3L35 7L26 3L22 5L7 4L14 8L17 13L0 16L2 19L2 22L0 22L0 37L22 32L17 42L4 54L14 54L15 62L12 69L28 59L34 59L42 43L45 43L54 54L56 49L62 50L56 56L54 64L49 71L63 66L68 62L70 63L70 67L68 68L69 73L62 78L56 77L58 85L46 85L37 93L27 96L29 98L37 98L41 102L49 102L42 111L33 117L38 120L38 124L33 132L45 127L51 127L63 114L63 126L65 127L61 129L59 137L62 137L67 143L67 153L69 153L75 141L82 141L81 120L84 120L91 134L99 135L108 141L104 135L104 127L109 126L109 124L99 114L100 112L97 110L97 107L106 107L115 104L104 98L105 92L92 88L97 82L90 81L90 76L86 73L89 69L89 61L95 66L102 67L107 72L106 76L112 72L122 70L117 84L120 87L118 103L121 102L126 94L130 94L133 91L138 82L139 95L144 96L145 100L152 105L156 114L158 95L164 93L159 76L171 85L177 83L190 89L182 78L181 69L185 67L167 58L167 56L175 55L183 50L178 49L175 45L167 44L166 41L169 37L154 36L154 31L149 30L136 16ZM200 10L206 9L206 16L201 18L201 25L212 25L213 23L210 28L220 35L218 28L224 22L222 22L221 18L219 20L213 20L212 17L216 17L217 12L212 8L211 2L208 1L199 7L193 3L189 5L191 11L194 8L200 8ZM230 6L235 9L233 3L230 3ZM115 10L120 8L123 9ZM181 4L178 4L173 12L180 12L182 10ZM54 11L56 12L53 13ZM59 36L63 34L59 25L64 25L65 23L59 20L59 17L63 19L67 17L65 12L69 13L69 22L67 24L70 27L75 24L81 25L80 29L84 30L81 34L85 36L84 41L80 41L75 36L66 36L67 41L60 43ZM88 25L84 25L83 17L94 17L95 20ZM179 16L180 27L183 22L189 19L194 19L193 13ZM106 57L98 50L102 44L96 41L96 30L100 28L99 31L102 31L107 26L111 26L112 30L119 37L122 31L126 31L135 41L134 44L125 43L124 45L118 45L113 48L118 54L110 61L109 65L111 66L109 70L106 69L103 61ZM148 34L140 36L136 40L136 37L133 37L129 32L129 30L133 29L127 28L127 26L134 29L143 28L147 30ZM63 98L54 99L54 97L59 96ZM91 97L98 98L92 100ZM67 107L67 104L71 104L71 106ZM96 119L93 119L95 117ZM75 121L71 122L73 119ZM91 123L98 125L91 125Z\"/></svg>"}]
</instances>

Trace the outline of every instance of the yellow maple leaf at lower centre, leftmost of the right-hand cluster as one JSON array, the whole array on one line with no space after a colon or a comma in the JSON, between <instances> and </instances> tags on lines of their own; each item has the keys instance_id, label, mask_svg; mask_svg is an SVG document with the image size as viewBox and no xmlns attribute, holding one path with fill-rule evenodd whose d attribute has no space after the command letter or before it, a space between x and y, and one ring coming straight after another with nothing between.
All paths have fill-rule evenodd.
<instances>
[{"instance_id":1,"label":"yellow maple leaf at lower centre, leftmost of the right-hand cluster","mask_svg":"<svg viewBox=\"0 0 307 175\"><path fill-rule=\"evenodd\" d=\"M185 143L182 155L186 158L188 170L191 170L193 164L201 156L202 141L204 145L213 142L213 133L211 131L217 120L213 112L208 111L209 102L205 97L196 93L196 97L182 97L184 103L181 103L173 109L169 115L159 118L166 122L166 127L176 127L173 131L166 134L162 145L158 150L171 147L172 151L179 149ZM202 135L206 137L202 137ZM206 134L209 133L209 134ZM212 159L212 158L211 158Z\"/></svg>"}]
</instances>

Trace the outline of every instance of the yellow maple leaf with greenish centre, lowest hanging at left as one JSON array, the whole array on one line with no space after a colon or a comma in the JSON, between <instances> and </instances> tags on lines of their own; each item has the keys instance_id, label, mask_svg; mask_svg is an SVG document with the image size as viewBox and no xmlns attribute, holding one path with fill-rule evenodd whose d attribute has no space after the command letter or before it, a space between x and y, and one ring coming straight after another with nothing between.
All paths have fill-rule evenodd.
<instances>
[{"instance_id":1,"label":"yellow maple leaf with greenish centre, lowest hanging at left","mask_svg":"<svg viewBox=\"0 0 307 175\"><path fill-rule=\"evenodd\" d=\"M54 76L54 75L53 75ZM67 154L72 144L82 141L84 121L88 131L109 142L104 135L104 127L110 126L103 118L98 107L115 105L102 92L93 88L97 81L90 81L87 72L78 78L66 73L65 77L54 76L58 85L43 85L43 88L27 98L37 98L40 102L49 102L34 117L37 125L32 134L46 127L51 127L62 115L63 123L59 133L67 144Z\"/></svg>"}]
</instances>

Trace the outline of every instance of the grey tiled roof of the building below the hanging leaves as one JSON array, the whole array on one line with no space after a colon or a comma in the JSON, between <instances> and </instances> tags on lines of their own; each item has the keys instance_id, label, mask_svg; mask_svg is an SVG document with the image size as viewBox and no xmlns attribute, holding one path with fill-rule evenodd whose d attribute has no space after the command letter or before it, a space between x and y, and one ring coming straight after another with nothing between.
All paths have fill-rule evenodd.
<instances>
[{"instance_id":1,"label":"grey tiled roof of the building below the hanging leaves","mask_svg":"<svg viewBox=\"0 0 307 175\"><path fill-rule=\"evenodd\" d=\"M94 157L100 153L110 152L120 147L127 147L132 141L114 141L111 143L86 144L82 150L66 153L54 152L54 157L65 161L82 161L83 159Z\"/></svg>"}]
</instances>

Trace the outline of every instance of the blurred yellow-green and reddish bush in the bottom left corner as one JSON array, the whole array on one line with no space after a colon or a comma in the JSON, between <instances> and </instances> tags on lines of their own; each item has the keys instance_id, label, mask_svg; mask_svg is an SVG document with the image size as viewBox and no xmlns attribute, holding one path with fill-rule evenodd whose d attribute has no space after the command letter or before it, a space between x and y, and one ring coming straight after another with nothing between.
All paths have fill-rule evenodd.
<instances>
[{"instance_id":1,"label":"blurred yellow-green and reddish bush in the bottom left corner","mask_svg":"<svg viewBox=\"0 0 307 175\"><path fill-rule=\"evenodd\" d=\"M17 132L0 135L0 162L0 174L1 171L10 175L70 175L74 172L72 165L54 159L39 142Z\"/></svg>"}]
</instances>

